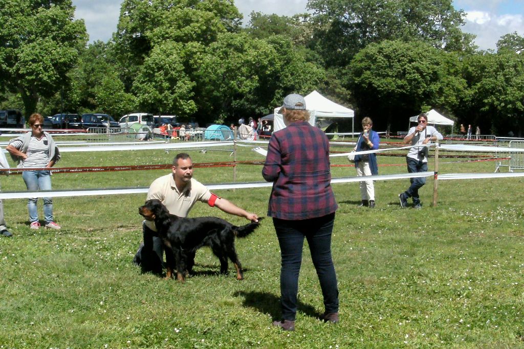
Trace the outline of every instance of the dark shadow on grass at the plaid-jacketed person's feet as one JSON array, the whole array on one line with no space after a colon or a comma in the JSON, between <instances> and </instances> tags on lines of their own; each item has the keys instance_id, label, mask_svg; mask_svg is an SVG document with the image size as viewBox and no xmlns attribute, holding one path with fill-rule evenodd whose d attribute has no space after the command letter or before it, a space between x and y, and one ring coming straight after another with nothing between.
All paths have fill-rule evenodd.
<instances>
[{"instance_id":1,"label":"dark shadow on grass at the plaid-jacketed person's feet","mask_svg":"<svg viewBox=\"0 0 524 349\"><path fill-rule=\"evenodd\" d=\"M269 314L272 320L281 319L280 297L267 292L256 291L238 291L235 293L235 296L244 298L242 302L244 307ZM315 308L302 303L300 300L297 302L297 310L312 318L319 318L321 315L315 311Z\"/></svg>"}]
</instances>

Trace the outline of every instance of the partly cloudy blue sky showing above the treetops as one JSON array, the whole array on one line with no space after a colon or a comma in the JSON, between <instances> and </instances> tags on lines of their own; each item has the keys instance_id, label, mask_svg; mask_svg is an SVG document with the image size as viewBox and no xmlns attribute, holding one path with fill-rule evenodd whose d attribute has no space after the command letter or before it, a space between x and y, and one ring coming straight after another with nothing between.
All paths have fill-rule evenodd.
<instances>
[{"instance_id":1,"label":"partly cloudy blue sky showing above the treetops","mask_svg":"<svg viewBox=\"0 0 524 349\"><path fill-rule=\"evenodd\" d=\"M306 11L307 0L236 0L235 4L249 21L249 13L277 13L291 16ZM115 0L73 0L76 18L83 18L90 42L107 41L116 30L121 2ZM524 0L455 0L455 8L466 13L464 32L477 36L475 44L483 50L496 49L497 40L516 31L524 36Z\"/></svg>"}]
</instances>

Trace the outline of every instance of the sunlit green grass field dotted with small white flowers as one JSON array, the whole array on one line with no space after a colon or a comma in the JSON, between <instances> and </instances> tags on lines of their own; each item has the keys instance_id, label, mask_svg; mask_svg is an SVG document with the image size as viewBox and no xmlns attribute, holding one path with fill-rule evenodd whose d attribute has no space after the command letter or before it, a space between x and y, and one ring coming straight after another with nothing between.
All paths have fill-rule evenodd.
<instances>
[{"instance_id":1,"label":"sunlit green grass field dotted with small white flowers","mask_svg":"<svg viewBox=\"0 0 524 349\"><path fill-rule=\"evenodd\" d=\"M64 153L58 166L165 164L174 154ZM190 154L195 163L231 160L226 152ZM238 160L261 157L242 148ZM378 162L380 174L406 172L404 157L379 156ZM336 157L332 163L347 161ZM494 169L493 162L457 159L441 159L439 166L440 173ZM260 171L260 165L240 165L237 181L261 181ZM52 181L54 189L148 186L166 173L56 174ZM196 168L195 178L231 182L232 173L230 167ZM353 176L355 170L333 167L332 175ZM0 182L4 191L25 190L19 175ZM235 279L232 266L230 275L218 275L218 260L204 249L196 255L196 274L180 284L141 274L132 264L145 195L55 198L63 227L58 232L31 231L26 200L5 200L14 237L0 238L0 348L524 347L522 182L441 181L439 204L431 207L429 179L421 189L422 210L398 205L407 179L376 182L373 210L357 207L357 183L334 185L341 322L316 319L324 309L304 246L292 333L270 325L280 318L280 252L270 219L237 240L244 281ZM217 194L265 216L269 193ZM204 215L246 222L196 204L191 216Z\"/></svg>"}]
</instances>

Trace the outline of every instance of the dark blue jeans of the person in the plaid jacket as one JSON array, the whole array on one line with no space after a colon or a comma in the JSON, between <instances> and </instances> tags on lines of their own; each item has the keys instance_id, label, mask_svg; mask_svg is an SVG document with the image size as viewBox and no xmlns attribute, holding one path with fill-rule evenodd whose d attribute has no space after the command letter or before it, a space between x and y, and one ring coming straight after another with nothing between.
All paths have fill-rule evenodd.
<instances>
[{"instance_id":1,"label":"dark blue jeans of the person in the plaid jacket","mask_svg":"<svg viewBox=\"0 0 524 349\"><path fill-rule=\"evenodd\" d=\"M316 275L319 277L325 311L328 313L339 311L339 288L331 258L331 232L334 220L335 213L297 221L273 218L282 258L280 269L282 319L294 321L296 317L298 276L302 264L304 237L308 240L311 259Z\"/></svg>"}]
</instances>

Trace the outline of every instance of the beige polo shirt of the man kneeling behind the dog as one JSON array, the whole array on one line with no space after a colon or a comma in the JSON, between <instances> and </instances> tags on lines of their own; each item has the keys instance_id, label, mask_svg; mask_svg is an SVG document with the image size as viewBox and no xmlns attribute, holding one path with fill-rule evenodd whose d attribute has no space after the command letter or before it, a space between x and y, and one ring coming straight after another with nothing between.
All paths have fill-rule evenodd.
<instances>
[{"instance_id":1,"label":"beige polo shirt of the man kneeling behind the dog","mask_svg":"<svg viewBox=\"0 0 524 349\"><path fill-rule=\"evenodd\" d=\"M149 187L149 192L147 192L147 200L158 199L162 201L169 213L179 217L187 217L196 201L207 203L210 198L209 189L194 178L191 178L191 182L182 189L182 192L179 192L174 184L172 173L155 179ZM157 231L155 222L146 221L146 226Z\"/></svg>"}]
</instances>

